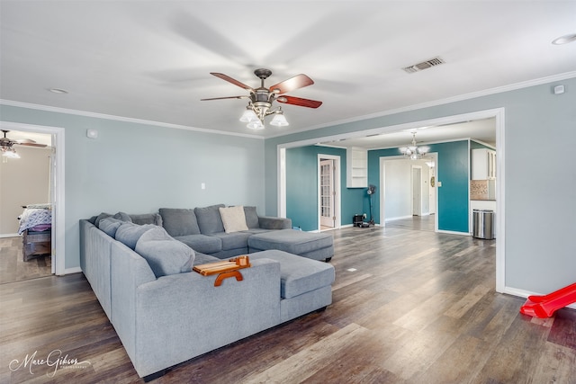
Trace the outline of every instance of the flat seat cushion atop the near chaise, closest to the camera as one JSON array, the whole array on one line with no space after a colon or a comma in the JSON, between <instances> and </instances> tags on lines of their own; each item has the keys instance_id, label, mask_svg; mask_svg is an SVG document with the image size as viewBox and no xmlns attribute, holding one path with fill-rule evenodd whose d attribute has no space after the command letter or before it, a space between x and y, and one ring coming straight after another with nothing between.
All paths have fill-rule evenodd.
<instances>
[{"instance_id":1,"label":"flat seat cushion atop the near chaise, closest to the camera","mask_svg":"<svg viewBox=\"0 0 576 384\"><path fill-rule=\"evenodd\" d=\"M336 277L331 264L284 251L257 252L250 254L250 259L272 259L280 262L280 296L283 299L290 299L330 285Z\"/></svg>"}]
</instances>

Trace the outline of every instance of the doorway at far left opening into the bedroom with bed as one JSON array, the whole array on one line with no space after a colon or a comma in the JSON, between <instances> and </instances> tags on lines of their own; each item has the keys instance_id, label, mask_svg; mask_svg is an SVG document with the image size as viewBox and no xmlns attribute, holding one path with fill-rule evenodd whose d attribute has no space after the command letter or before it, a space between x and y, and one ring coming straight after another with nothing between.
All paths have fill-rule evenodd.
<instances>
[{"instance_id":1,"label":"doorway at far left opening into the bedroom with bed","mask_svg":"<svg viewBox=\"0 0 576 384\"><path fill-rule=\"evenodd\" d=\"M11 139L31 138L47 145L14 145L20 158L3 160L0 171L3 180L0 195L0 283L65 274L64 228L58 226L58 222L64 222L64 129L7 121L0 121L0 127L9 131ZM41 239L29 237L26 240L29 246L26 246L23 234L19 233L22 229L19 218L29 204L40 204L42 208L50 209L48 220L37 223L44 227L42 229L50 230L42 231ZM36 253L39 255L34 255Z\"/></svg>"}]
</instances>

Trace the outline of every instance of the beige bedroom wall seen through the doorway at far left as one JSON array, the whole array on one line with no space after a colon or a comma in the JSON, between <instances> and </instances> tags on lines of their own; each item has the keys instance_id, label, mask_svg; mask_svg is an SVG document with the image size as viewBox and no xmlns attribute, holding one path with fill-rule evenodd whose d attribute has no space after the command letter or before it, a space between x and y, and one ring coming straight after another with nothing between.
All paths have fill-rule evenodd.
<instances>
[{"instance_id":1,"label":"beige bedroom wall seen through the doorway at far left","mask_svg":"<svg viewBox=\"0 0 576 384\"><path fill-rule=\"evenodd\" d=\"M20 158L0 160L0 235L18 233L23 205L49 202L51 149L17 146L16 151Z\"/></svg>"}]
</instances>

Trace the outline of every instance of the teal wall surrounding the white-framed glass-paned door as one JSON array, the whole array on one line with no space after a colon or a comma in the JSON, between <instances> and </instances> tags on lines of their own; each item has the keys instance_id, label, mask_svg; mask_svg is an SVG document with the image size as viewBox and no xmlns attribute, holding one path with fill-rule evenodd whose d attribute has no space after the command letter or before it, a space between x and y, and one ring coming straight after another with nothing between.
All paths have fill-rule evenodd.
<instances>
[{"instance_id":1,"label":"teal wall surrounding the white-framed glass-paned door","mask_svg":"<svg viewBox=\"0 0 576 384\"><path fill-rule=\"evenodd\" d=\"M346 149L318 146L288 148L286 149L286 217L292 219L294 227L300 227L305 231L319 229L319 155L340 156L341 225L352 224L353 216L363 213L365 188L346 187Z\"/></svg>"}]
</instances>

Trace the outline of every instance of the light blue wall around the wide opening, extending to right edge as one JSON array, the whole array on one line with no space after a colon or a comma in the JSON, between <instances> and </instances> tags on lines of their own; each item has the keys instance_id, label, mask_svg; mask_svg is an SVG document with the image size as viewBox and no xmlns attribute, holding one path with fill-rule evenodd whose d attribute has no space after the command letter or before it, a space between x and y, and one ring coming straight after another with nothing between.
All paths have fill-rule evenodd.
<instances>
[{"instance_id":1,"label":"light blue wall around the wide opening, extending to right edge","mask_svg":"<svg viewBox=\"0 0 576 384\"><path fill-rule=\"evenodd\" d=\"M564 94L554 94L554 85ZM505 285L549 292L576 281L576 78L266 139L266 212L277 207L277 146L495 108L505 110ZM329 107L323 105L322 108ZM371 172L371 171L370 171ZM440 175L438 177L441 177ZM497 240L498 241L498 240Z\"/></svg>"}]
</instances>

